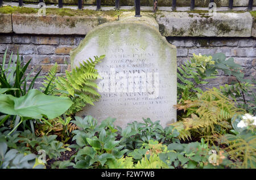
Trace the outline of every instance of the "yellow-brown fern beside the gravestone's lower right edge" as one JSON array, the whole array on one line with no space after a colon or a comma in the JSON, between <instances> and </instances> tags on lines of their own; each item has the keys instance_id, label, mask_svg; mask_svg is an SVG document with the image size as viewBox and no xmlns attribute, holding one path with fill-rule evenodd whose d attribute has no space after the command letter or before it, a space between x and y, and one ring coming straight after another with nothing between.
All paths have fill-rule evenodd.
<instances>
[{"instance_id":1,"label":"yellow-brown fern beside the gravestone's lower right edge","mask_svg":"<svg viewBox=\"0 0 256 180\"><path fill-rule=\"evenodd\" d=\"M177 108L191 111L191 117L183 119L184 130L193 130L207 138L220 134L216 131L216 125L229 129L230 119L245 113L217 88L209 89L197 100L185 101L185 105L177 105Z\"/></svg>"}]
</instances>

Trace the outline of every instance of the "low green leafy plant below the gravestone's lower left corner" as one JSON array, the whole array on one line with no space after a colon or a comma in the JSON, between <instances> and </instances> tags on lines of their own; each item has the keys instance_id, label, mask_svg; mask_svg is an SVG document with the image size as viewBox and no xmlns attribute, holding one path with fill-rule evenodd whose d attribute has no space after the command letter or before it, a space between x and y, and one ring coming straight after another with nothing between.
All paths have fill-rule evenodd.
<instances>
[{"instance_id":1,"label":"low green leafy plant below the gravestone's lower left corner","mask_svg":"<svg viewBox=\"0 0 256 180\"><path fill-rule=\"evenodd\" d=\"M121 158L127 152L115 138L115 119L107 118L97 126L96 119L91 116L75 118L76 121L72 122L81 128L73 131L73 140L76 140L77 145L69 146L79 149L75 156L75 168L103 168L109 159Z\"/></svg>"}]
</instances>

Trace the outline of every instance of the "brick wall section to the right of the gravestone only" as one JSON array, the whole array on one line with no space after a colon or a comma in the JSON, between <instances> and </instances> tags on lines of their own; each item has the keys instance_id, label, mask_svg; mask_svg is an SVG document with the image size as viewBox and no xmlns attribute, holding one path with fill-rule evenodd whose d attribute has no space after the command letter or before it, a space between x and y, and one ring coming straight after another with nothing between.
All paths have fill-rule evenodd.
<instances>
[{"instance_id":1,"label":"brick wall section to the right of the gravestone only","mask_svg":"<svg viewBox=\"0 0 256 180\"><path fill-rule=\"evenodd\" d=\"M256 38L254 37L167 37L167 41L177 47L177 65L187 61L192 54L224 53L233 57L234 62L243 67L245 78L256 78ZM220 72L218 78L208 80L208 87L230 84L233 77Z\"/></svg>"}]
</instances>

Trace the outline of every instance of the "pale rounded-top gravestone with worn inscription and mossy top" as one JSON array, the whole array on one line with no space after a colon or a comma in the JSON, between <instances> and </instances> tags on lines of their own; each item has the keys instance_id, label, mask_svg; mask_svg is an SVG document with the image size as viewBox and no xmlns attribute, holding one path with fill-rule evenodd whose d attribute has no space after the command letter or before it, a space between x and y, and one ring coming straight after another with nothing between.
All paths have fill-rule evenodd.
<instances>
[{"instance_id":1,"label":"pale rounded-top gravestone with worn inscription and mossy top","mask_svg":"<svg viewBox=\"0 0 256 180\"><path fill-rule=\"evenodd\" d=\"M71 67L106 55L96 65L102 77L97 80L101 98L76 115L92 115L99 122L117 118L115 125L120 127L143 122L142 118L159 120L163 127L176 122L176 47L158 29L150 16L127 14L86 35L71 51Z\"/></svg>"}]
</instances>

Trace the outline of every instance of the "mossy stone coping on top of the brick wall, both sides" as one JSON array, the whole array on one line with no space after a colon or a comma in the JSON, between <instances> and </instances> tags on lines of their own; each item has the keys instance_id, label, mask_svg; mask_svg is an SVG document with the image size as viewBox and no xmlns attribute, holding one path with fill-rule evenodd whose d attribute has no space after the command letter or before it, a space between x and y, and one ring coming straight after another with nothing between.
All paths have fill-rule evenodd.
<instances>
[{"instance_id":1,"label":"mossy stone coping on top of the brick wall, both sides","mask_svg":"<svg viewBox=\"0 0 256 180\"><path fill-rule=\"evenodd\" d=\"M15 7L7 12L0 7L0 33L37 35L86 35L91 29L106 22L119 20L120 15L134 11L95 11L47 8L46 16L36 14L38 9ZM24 8L30 14L22 11ZM1 14L2 12L2 14ZM143 11L142 11L143 12ZM9 14L8 14L9 13ZM143 12L156 19L163 36L180 37L256 37L255 11L217 12L209 15L207 11Z\"/></svg>"}]
</instances>

